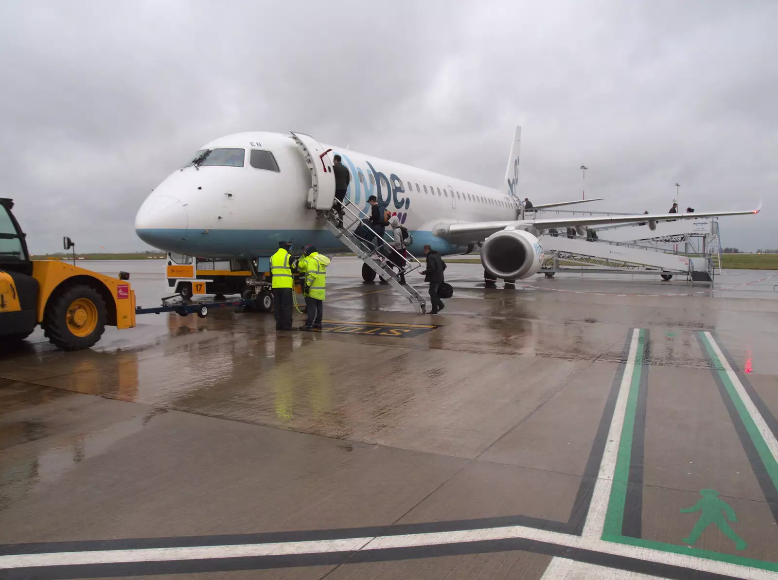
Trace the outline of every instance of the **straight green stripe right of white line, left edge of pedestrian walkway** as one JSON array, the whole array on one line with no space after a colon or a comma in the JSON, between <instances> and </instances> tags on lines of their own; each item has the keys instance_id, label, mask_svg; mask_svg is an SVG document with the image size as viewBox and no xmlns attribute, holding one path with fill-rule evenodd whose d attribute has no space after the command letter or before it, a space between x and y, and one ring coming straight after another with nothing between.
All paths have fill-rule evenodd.
<instances>
[{"instance_id":1,"label":"straight green stripe right of white line, left edge of pedestrian walkway","mask_svg":"<svg viewBox=\"0 0 778 580\"><path fill-rule=\"evenodd\" d=\"M629 381L629 397L627 397L622 437L619 442L619 452L616 455L616 467L613 473L611 497L608 499L608 511L605 512L603 536L621 535L624 522L624 507L627 498L629 482L629 459L632 456L633 435L635 432L635 413L637 408L637 392L640 387L640 373L643 367L643 351L645 348L646 331L640 329L635 353L635 364L632 378ZM629 372L629 369L625 369Z\"/></svg>"}]
</instances>

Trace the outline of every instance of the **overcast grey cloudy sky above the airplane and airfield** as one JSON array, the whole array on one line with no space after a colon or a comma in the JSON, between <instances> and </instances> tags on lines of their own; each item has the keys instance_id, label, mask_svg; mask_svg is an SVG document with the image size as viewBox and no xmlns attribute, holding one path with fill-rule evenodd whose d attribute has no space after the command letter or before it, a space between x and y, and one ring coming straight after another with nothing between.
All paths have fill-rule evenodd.
<instances>
[{"instance_id":1,"label":"overcast grey cloudy sky above the airplane and airfield","mask_svg":"<svg viewBox=\"0 0 778 580\"><path fill-rule=\"evenodd\" d=\"M778 246L778 2L2 2L0 194L33 253L145 250L135 211L237 131L597 208L750 209ZM593 208L594 208L593 204Z\"/></svg>"}]
</instances>

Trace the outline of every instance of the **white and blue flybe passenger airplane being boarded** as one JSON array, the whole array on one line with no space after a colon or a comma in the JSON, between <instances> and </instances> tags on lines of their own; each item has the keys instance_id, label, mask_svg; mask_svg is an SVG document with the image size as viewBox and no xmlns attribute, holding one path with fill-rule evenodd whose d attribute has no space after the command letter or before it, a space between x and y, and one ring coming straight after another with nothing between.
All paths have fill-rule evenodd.
<instances>
[{"instance_id":1,"label":"white and blue flybe passenger airplane being boarded","mask_svg":"<svg viewBox=\"0 0 778 580\"><path fill-rule=\"evenodd\" d=\"M503 184L498 189L377 159L292 133L238 133L212 141L146 198L135 217L138 236L161 250L187 256L261 259L287 240L321 252L344 246L317 219L335 194L332 156L351 172L347 199L367 207L375 195L413 233L408 249L421 256L429 244L439 253L468 253L481 245L485 270L496 278L528 278L543 261L538 242L550 228L678 218L745 215L750 211L694 214L532 218L517 194L521 128L516 128ZM595 201L595 200L585 200ZM536 209L584 203L562 201ZM761 202L759 204L761 208ZM363 268L366 279L372 273Z\"/></svg>"}]
</instances>

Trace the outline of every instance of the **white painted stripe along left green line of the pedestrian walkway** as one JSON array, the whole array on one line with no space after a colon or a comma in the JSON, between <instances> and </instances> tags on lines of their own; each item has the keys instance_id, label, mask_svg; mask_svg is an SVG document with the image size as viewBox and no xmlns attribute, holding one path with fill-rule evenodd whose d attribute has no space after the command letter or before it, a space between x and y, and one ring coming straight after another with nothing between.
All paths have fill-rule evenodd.
<instances>
[{"instance_id":1,"label":"white painted stripe along left green line of the pedestrian walkway","mask_svg":"<svg viewBox=\"0 0 778 580\"><path fill-rule=\"evenodd\" d=\"M622 376L622 384L619 386L619 397L613 409L611 428L608 431L608 439L605 441L605 449L602 452L600 471L597 481L594 482L594 493L589 504L589 513L584 523L584 536L599 538L605 527L605 514L608 512L608 500L611 498L613 487L613 474L616 470L616 458L619 455L619 442L622 438L624 427L624 415L627 410L627 398L629 397L629 385L632 383L635 372L635 358L637 357L637 345L640 338L640 329L633 329L632 342L629 344L629 355Z\"/></svg>"}]
</instances>

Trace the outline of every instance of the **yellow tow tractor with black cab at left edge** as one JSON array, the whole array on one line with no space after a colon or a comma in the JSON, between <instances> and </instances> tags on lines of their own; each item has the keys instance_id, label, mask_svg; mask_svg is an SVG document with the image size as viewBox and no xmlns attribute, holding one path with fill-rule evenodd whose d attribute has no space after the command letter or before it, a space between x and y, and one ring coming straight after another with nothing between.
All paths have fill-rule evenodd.
<instances>
[{"instance_id":1,"label":"yellow tow tractor with black cab at left edge","mask_svg":"<svg viewBox=\"0 0 778 580\"><path fill-rule=\"evenodd\" d=\"M68 351L89 348L106 325L135 327L128 274L110 278L56 260L30 260L25 234L0 197L0 350L23 341L38 324Z\"/></svg>"}]
</instances>

